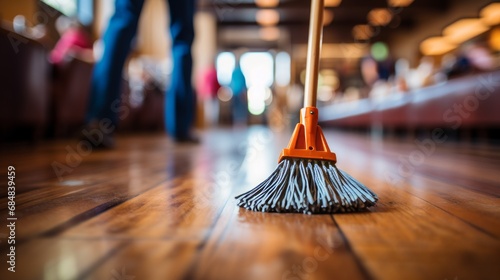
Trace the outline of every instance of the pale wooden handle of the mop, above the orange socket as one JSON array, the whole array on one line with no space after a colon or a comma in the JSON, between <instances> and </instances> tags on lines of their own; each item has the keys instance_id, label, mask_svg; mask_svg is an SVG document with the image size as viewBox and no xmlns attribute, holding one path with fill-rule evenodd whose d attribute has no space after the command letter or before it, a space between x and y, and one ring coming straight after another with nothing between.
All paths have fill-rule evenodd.
<instances>
[{"instance_id":1,"label":"pale wooden handle of the mop, above the orange socket","mask_svg":"<svg viewBox=\"0 0 500 280\"><path fill-rule=\"evenodd\" d=\"M324 4L324 0L311 0L304 107L316 107L319 59L321 56L321 42L323 40Z\"/></svg>"}]
</instances>

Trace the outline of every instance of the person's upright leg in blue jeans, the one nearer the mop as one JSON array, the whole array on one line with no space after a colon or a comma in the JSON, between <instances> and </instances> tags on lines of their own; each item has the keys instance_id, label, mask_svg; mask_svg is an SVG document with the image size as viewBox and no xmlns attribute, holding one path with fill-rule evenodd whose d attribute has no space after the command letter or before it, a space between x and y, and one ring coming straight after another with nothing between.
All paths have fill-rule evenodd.
<instances>
[{"instance_id":1,"label":"person's upright leg in blue jeans, the one nearer the mop","mask_svg":"<svg viewBox=\"0 0 500 280\"><path fill-rule=\"evenodd\" d=\"M194 120L195 96L191 85L195 0L169 0L173 71L165 98L167 132L178 140L189 139Z\"/></svg>"}]
</instances>

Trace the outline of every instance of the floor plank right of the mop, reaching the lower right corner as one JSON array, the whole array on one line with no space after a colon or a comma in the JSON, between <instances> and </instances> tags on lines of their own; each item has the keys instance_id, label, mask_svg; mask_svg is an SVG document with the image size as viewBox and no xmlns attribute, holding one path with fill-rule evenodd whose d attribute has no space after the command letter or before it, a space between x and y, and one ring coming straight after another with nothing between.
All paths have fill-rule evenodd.
<instances>
[{"instance_id":1,"label":"floor plank right of the mop, reaching the lower right corner","mask_svg":"<svg viewBox=\"0 0 500 280\"><path fill-rule=\"evenodd\" d=\"M371 183L380 196L373 213L334 217L375 278L493 279L500 273L493 264L500 258L498 238L403 189Z\"/></svg>"}]
</instances>

